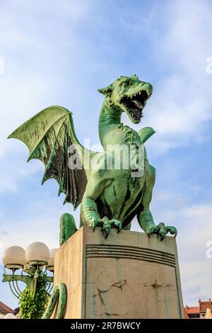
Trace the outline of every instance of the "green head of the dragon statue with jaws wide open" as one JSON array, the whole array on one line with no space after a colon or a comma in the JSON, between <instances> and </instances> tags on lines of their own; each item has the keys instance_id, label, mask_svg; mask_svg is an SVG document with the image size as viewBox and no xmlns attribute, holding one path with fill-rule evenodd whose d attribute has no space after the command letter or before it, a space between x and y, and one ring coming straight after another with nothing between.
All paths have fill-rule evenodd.
<instances>
[{"instance_id":1,"label":"green head of the dragon statue with jaws wide open","mask_svg":"<svg viewBox=\"0 0 212 333\"><path fill-rule=\"evenodd\" d=\"M139 80L136 75L132 75L119 77L110 86L98 91L107 98L110 106L126 112L132 123L138 124L143 117L143 108L153 92L153 87Z\"/></svg>"}]
</instances>

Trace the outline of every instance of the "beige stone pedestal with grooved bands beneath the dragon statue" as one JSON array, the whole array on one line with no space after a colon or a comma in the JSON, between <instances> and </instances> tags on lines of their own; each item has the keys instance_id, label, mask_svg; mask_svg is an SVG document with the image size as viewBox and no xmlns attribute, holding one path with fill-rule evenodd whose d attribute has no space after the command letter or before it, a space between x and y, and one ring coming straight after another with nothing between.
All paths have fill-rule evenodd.
<instances>
[{"instance_id":1,"label":"beige stone pedestal with grooved bands beneath the dragon statue","mask_svg":"<svg viewBox=\"0 0 212 333\"><path fill-rule=\"evenodd\" d=\"M55 255L65 283L64 318L183 318L176 241L143 232L81 227Z\"/></svg>"}]
</instances>

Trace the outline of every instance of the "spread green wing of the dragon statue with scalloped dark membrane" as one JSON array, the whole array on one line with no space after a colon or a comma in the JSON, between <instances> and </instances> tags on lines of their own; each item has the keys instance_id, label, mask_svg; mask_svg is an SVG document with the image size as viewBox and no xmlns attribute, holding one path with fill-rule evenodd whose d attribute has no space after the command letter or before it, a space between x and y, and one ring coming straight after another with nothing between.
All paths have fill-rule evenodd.
<instances>
[{"instance_id":1,"label":"spread green wing of the dragon statue with scalloped dark membrane","mask_svg":"<svg viewBox=\"0 0 212 333\"><path fill-rule=\"evenodd\" d=\"M9 138L21 140L28 146L28 161L40 159L44 162L45 174L42 184L47 179L56 179L59 195L66 195L64 203L72 203L74 208L81 203L87 177L83 166L81 169L69 167L68 149L72 144L75 147L79 145L70 111L60 106L46 108L21 125ZM81 156L78 160L81 160Z\"/></svg>"}]
</instances>

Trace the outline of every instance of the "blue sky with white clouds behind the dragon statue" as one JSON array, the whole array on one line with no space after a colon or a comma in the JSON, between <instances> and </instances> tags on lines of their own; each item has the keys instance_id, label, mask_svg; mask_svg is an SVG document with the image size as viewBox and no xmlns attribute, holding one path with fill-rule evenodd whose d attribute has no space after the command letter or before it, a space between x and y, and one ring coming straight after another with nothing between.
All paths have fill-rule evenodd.
<instances>
[{"instance_id":1,"label":"blue sky with white clouds behind the dragon statue","mask_svg":"<svg viewBox=\"0 0 212 333\"><path fill-rule=\"evenodd\" d=\"M43 108L73 112L78 139L98 144L97 89L120 75L153 84L136 130L151 126L146 144L157 170L151 210L175 225L184 304L212 294L212 3L204 0L0 1L0 249L34 241L58 247L62 205L57 183L41 186L43 166L6 137ZM78 210L74 213L78 220ZM133 230L139 227L134 222ZM2 272L2 265L0 273ZM16 307L6 283L0 300Z\"/></svg>"}]
</instances>

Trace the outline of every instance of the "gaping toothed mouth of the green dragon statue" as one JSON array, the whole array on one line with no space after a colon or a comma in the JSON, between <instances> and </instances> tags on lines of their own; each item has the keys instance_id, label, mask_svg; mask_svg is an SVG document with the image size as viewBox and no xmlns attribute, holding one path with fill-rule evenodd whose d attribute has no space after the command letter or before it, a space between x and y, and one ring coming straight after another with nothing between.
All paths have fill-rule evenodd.
<instances>
[{"instance_id":1,"label":"gaping toothed mouth of the green dragon statue","mask_svg":"<svg viewBox=\"0 0 212 333\"><path fill-rule=\"evenodd\" d=\"M122 98L121 103L133 123L139 123L143 117L143 108L146 105L147 99L148 94L146 90L138 91L131 96L124 96L124 98Z\"/></svg>"}]
</instances>

